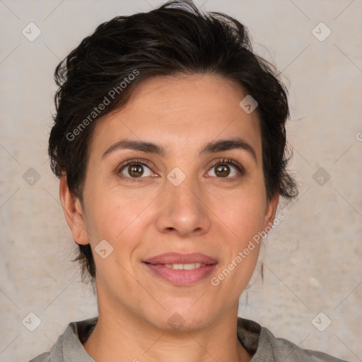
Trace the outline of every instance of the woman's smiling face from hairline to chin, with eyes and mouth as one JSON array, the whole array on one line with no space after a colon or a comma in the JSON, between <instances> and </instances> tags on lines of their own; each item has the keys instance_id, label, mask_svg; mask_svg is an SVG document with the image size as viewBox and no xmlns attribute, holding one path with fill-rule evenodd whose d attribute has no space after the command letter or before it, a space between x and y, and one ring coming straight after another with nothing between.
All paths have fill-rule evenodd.
<instances>
[{"instance_id":1,"label":"woman's smiling face from hairline to chin, with eyes and mouth","mask_svg":"<svg viewBox=\"0 0 362 362\"><path fill-rule=\"evenodd\" d=\"M219 76L150 78L98 119L70 226L91 243L100 310L162 329L237 310L259 245L243 250L278 200L267 202L257 112L239 105L246 95ZM126 139L155 146L124 148Z\"/></svg>"}]
</instances>

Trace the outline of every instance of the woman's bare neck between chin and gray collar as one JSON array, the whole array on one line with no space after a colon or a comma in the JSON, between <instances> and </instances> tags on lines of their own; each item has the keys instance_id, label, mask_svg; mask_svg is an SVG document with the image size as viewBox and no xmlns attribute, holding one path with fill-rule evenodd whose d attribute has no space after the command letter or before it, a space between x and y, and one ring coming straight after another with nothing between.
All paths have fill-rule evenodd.
<instances>
[{"instance_id":1,"label":"woman's bare neck between chin and gray collar","mask_svg":"<svg viewBox=\"0 0 362 362\"><path fill-rule=\"evenodd\" d=\"M204 330L169 332L132 320L127 313L119 317L100 310L83 347L97 362L246 362L252 356L238 340L237 317L230 314Z\"/></svg>"}]
</instances>

